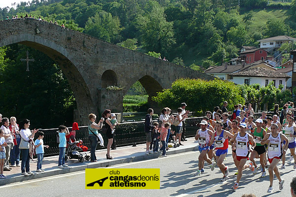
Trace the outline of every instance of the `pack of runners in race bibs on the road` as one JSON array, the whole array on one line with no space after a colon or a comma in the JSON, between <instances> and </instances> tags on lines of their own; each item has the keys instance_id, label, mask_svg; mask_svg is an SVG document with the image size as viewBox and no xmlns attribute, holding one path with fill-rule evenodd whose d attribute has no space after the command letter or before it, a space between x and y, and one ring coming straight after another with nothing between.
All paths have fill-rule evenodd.
<instances>
[{"instance_id":1,"label":"pack of runners in race bibs on the road","mask_svg":"<svg viewBox=\"0 0 296 197\"><path fill-rule=\"evenodd\" d=\"M241 111L241 114L244 114L244 111ZM294 159L294 169L296 169L296 124L291 114L287 114L287 119L282 125L277 115L266 117L266 112L262 112L262 117L255 123L252 115L248 118L237 116L232 121L228 120L227 113L216 113L216 121L212 120L212 117L212 112L207 111L200 123L200 130L195 135L200 151L196 175L204 172L206 161L212 171L217 165L223 174L221 181L226 181L229 178L229 170L223 161L228 153L228 145L231 145L233 162L238 170L235 173L236 182L231 187L233 190L238 189L244 169L249 168L254 174L257 173L259 165L255 159L259 159L261 165L261 177L266 176L265 168L268 168L270 185L267 192L273 191L273 173L279 180L279 189L282 190L284 179L281 179L277 164L282 159L283 164L280 169L285 169L288 148L291 153L290 161ZM212 158L215 162L212 162Z\"/></svg>"}]
</instances>

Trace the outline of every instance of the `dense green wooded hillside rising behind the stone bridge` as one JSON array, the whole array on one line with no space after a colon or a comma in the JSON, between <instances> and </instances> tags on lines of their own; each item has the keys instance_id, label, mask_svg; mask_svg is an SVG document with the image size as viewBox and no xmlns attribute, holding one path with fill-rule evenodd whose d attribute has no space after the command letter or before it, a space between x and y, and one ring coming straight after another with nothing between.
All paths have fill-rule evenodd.
<instances>
[{"instance_id":1,"label":"dense green wooded hillside rising behind the stone bridge","mask_svg":"<svg viewBox=\"0 0 296 197\"><path fill-rule=\"evenodd\" d=\"M296 36L296 0L287 3L287 19L268 19L256 31L250 27L259 21L246 10L265 8L267 0L33 0L2 8L0 20L41 16L132 50L207 68L236 57L242 45L258 46L258 39Z\"/></svg>"}]
</instances>

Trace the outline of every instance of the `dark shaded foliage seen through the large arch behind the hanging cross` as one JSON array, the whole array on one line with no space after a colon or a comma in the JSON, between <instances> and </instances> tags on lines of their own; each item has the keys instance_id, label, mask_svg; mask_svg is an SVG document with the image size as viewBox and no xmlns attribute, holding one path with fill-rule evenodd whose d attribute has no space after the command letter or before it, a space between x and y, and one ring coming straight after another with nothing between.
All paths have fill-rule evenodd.
<instances>
[{"instance_id":1,"label":"dark shaded foliage seen through the large arch behind the hanging cross","mask_svg":"<svg viewBox=\"0 0 296 197\"><path fill-rule=\"evenodd\" d=\"M35 62L26 71L26 51ZM75 99L63 72L43 53L13 44L0 48L0 113L24 118L34 128L72 126ZM33 129L34 129L33 128Z\"/></svg>"}]
</instances>

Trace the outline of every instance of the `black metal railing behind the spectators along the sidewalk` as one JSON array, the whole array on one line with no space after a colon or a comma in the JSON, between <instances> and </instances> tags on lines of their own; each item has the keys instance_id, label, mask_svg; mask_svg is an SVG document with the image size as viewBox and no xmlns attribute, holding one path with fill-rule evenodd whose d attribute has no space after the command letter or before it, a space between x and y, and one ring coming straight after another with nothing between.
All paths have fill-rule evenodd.
<instances>
[{"instance_id":1,"label":"black metal railing behind the spectators along the sidewalk","mask_svg":"<svg viewBox=\"0 0 296 197\"><path fill-rule=\"evenodd\" d=\"M261 116L260 113L254 115L254 121ZM186 136L192 137L195 136L196 131L200 129L199 123L201 122L202 117L186 118L185 120L185 129ZM145 122L128 122L120 123L115 128L114 139L116 141L116 146L127 146L134 143L146 143L146 134L144 132ZM68 128L69 131L72 128ZM176 131L176 127L172 125L172 130ZM44 145L49 145L49 149L44 149L44 156L52 156L59 154L59 144L57 142L57 131L58 129L44 129ZM104 147L98 145L97 149L105 149L107 147L108 138L106 134L102 134L104 138ZM76 140L82 139L83 145L90 148L90 143L88 141L88 129L87 126L79 127L79 131L76 131Z\"/></svg>"}]
</instances>

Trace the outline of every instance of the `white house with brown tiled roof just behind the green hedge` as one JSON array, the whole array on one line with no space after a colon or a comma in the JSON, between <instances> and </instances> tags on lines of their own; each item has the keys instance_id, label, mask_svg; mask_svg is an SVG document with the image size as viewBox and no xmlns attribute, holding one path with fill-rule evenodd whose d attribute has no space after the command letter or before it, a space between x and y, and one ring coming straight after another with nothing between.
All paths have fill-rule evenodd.
<instances>
[{"instance_id":1,"label":"white house with brown tiled roof just behind the green hedge","mask_svg":"<svg viewBox=\"0 0 296 197\"><path fill-rule=\"evenodd\" d=\"M283 90L286 90L287 81L291 78L285 73L279 73L264 67L253 67L229 75L232 76L232 80L229 81L236 84L260 84L261 87L264 87L273 82L276 88L282 84L284 86Z\"/></svg>"}]
</instances>

